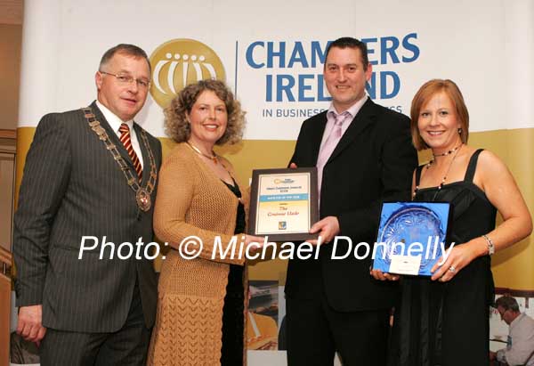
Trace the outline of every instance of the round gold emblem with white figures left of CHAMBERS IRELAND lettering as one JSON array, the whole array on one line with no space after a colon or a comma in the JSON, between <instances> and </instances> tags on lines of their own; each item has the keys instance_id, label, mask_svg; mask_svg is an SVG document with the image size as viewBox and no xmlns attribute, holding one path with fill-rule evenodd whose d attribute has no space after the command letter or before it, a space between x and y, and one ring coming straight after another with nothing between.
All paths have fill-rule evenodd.
<instances>
[{"instance_id":1,"label":"round gold emblem with white figures left of CHAMBERS IRELAND lettering","mask_svg":"<svg viewBox=\"0 0 534 366\"><path fill-rule=\"evenodd\" d=\"M150 55L150 65L150 94L161 108L166 108L186 85L207 78L226 78L219 56L194 39L173 39L160 45Z\"/></svg>"}]
</instances>

